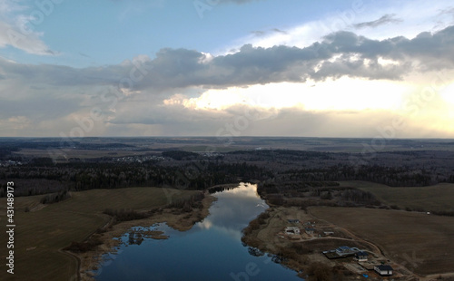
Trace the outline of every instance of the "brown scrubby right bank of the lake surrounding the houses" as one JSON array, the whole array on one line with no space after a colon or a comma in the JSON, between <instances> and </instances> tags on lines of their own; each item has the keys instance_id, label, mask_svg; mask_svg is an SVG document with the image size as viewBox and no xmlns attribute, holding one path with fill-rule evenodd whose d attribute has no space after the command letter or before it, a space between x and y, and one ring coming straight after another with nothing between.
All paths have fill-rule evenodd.
<instances>
[{"instance_id":1,"label":"brown scrubby right bank of the lake surrounding the houses","mask_svg":"<svg viewBox=\"0 0 454 281\"><path fill-rule=\"evenodd\" d=\"M289 222L289 220L297 220L297 222ZM309 228L318 228L318 233L321 235L308 234L305 232L306 225ZM300 228L301 234L286 234L284 228L290 226ZM329 234L323 234L323 231L329 231ZM358 262L353 257L329 259L321 254L329 248L347 246L358 247L368 252L369 262L390 264L395 268L392 276L395 280L454 280L454 272L416 274L406 267L408 264L405 262L401 263L395 257L391 258L388 253L384 254L373 241L358 237L347 228L316 217L312 214L311 208L306 212L300 208L271 205L243 230L242 242L262 252L283 257L285 260L282 264L295 270L301 278L306 278L308 275L308 279L327 277L322 271L332 271L335 272L334 277L347 278L346 280L356 279L362 273L367 273L370 280L382 280L369 268L367 271L358 270L358 266L354 266Z\"/></svg>"}]
</instances>

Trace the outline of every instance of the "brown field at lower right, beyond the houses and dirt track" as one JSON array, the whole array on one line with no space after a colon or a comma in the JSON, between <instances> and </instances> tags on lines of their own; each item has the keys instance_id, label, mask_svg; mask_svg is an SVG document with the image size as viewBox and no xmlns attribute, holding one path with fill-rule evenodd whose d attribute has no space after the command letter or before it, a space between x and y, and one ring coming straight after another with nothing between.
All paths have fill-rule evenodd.
<instances>
[{"instance_id":1,"label":"brown field at lower right, beyond the houses and dirt track","mask_svg":"<svg viewBox=\"0 0 454 281\"><path fill-rule=\"evenodd\" d=\"M419 275L454 271L454 218L371 208L317 207L310 212L373 242Z\"/></svg>"}]
</instances>

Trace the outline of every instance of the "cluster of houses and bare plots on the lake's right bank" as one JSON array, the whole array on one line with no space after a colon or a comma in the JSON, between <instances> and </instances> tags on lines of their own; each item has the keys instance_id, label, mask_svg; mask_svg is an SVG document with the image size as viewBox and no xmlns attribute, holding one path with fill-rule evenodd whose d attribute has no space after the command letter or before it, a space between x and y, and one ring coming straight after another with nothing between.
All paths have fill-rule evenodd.
<instances>
[{"instance_id":1,"label":"cluster of houses and bare plots on the lake's right bank","mask_svg":"<svg viewBox=\"0 0 454 281\"><path fill-rule=\"evenodd\" d=\"M299 216L295 217L299 218L291 217L291 215L297 214ZM323 245L323 241L326 241L326 248L312 253L310 258L331 266L343 266L350 271L353 279L406 280L412 277L407 268L384 257L378 247L345 246L360 240L346 229L311 218L309 214L301 216L301 212L283 212L276 217L281 220L281 226L284 226L276 234L281 241L291 242L294 245L298 243L303 246L309 245L311 242L320 242L319 244ZM300 219L301 217L304 219ZM333 243L333 241L335 242ZM339 246L332 247L332 245ZM362 245L362 243L357 243L357 245Z\"/></svg>"}]
</instances>

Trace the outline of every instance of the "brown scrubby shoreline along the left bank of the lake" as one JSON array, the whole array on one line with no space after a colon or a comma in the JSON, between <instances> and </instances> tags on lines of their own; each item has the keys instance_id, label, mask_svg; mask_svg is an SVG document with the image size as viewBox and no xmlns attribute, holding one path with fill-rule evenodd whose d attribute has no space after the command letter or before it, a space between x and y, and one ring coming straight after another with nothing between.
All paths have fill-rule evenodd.
<instances>
[{"instance_id":1,"label":"brown scrubby shoreline along the left bank of the lake","mask_svg":"<svg viewBox=\"0 0 454 281\"><path fill-rule=\"evenodd\" d=\"M202 199L202 208L192 208L192 211L190 212L183 212L176 208L160 208L159 211L150 218L123 221L111 225L104 233L94 232L91 237L102 243L98 247L95 247L94 250L85 253L62 251L80 260L77 272L80 280L93 281L95 276L93 271L102 266L102 263L104 262L103 256L108 253L116 253L116 248L122 244L118 238L122 237L129 229L133 227L148 228L153 226L153 224L165 222L171 228L179 231L187 231L191 229L195 223L201 221L210 214L209 208L216 200L217 199L210 193L205 192L205 197ZM151 237L154 239L167 238L166 236L163 236L163 232L161 231L148 231L144 233L143 237Z\"/></svg>"}]
</instances>

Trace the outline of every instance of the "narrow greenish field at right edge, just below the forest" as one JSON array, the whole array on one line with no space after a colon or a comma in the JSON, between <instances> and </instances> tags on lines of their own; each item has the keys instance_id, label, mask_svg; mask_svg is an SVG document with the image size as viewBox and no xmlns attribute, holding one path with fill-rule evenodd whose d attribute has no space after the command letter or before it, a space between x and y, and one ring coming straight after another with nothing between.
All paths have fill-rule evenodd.
<instances>
[{"instance_id":1,"label":"narrow greenish field at right edge, just below the forest","mask_svg":"<svg viewBox=\"0 0 454 281\"><path fill-rule=\"evenodd\" d=\"M370 191L387 205L426 211L454 211L454 184L440 183L430 187L392 188L368 181L340 181L341 187Z\"/></svg>"}]
</instances>

